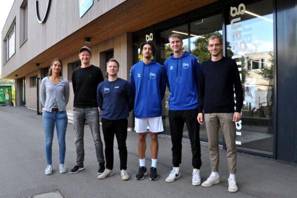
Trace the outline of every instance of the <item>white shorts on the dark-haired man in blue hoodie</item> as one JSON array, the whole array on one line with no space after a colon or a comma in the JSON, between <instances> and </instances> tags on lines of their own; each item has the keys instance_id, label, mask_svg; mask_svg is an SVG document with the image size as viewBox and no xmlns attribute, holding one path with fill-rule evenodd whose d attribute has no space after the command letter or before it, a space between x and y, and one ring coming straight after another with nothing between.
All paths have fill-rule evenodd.
<instances>
[{"instance_id":1,"label":"white shorts on the dark-haired man in blue hoodie","mask_svg":"<svg viewBox=\"0 0 297 198\"><path fill-rule=\"evenodd\" d=\"M135 118L136 133L145 133L149 129L152 133L160 133L164 131L162 116L151 118Z\"/></svg>"}]
</instances>

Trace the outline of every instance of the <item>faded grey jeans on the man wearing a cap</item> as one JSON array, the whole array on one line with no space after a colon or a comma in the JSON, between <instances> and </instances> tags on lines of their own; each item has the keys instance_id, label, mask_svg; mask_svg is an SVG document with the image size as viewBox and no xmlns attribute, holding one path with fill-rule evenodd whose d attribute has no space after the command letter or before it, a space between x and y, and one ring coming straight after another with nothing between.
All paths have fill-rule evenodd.
<instances>
[{"instance_id":1,"label":"faded grey jeans on the man wearing a cap","mask_svg":"<svg viewBox=\"0 0 297 198\"><path fill-rule=\"evenodd\" d=\"M96 148L98 163L105 163L103 155L103 144L100 137L99 110L97 107L74 107L73 125L75 131L76 165L82 166L85 159L84 149L84 127L88 121Z\"/></svg>"}]
</instances>

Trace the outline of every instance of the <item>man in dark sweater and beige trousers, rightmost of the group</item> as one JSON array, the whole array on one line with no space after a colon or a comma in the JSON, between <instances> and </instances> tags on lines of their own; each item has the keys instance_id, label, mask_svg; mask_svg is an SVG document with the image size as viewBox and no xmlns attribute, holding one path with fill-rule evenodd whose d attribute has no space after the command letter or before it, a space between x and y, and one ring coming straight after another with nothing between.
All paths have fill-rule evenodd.
<instances>
[{"instance_id":1,"label":"man in dark sweater and beige trousers, rightmost of the group","mask_svg":"<svg viewBox=\"0 0 297 198\"><path fill-rule=\"evenodd\" d=\"M218 131L219 123L227 147L227 161L229 167L228 191L237 192L236 173L236 126L235 122L241 119L243 106L243 89L236 61L222 56L223 45L221 39L212 36L208 39L207 49L211 59L202 63L199 75L198 91L198 122L204 124L202 110L204 110L205 127L208 137L211 174L203 187L210 187L220 183ZM234 90L236 104L234 102ZM234 106L235 111L234 111Z\"/></svg>"}]
</instances>

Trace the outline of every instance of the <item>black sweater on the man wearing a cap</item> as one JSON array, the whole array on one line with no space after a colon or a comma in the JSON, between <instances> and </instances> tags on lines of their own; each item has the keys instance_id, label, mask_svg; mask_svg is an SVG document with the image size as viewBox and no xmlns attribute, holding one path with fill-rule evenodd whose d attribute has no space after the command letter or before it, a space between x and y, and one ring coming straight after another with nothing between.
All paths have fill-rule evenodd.
<instances>
[{"instance_id":1,"label":"black sweater on the man wearing a cap","mask_svg":"<svg viewBox=\"0 0 297 198\"><path fill-rule=\"evenodd\" d=\"M79 67L72 72L74 107L98 107L97 87L103 81L101 69L94 65Z\"/></svg>"}]
</instances>

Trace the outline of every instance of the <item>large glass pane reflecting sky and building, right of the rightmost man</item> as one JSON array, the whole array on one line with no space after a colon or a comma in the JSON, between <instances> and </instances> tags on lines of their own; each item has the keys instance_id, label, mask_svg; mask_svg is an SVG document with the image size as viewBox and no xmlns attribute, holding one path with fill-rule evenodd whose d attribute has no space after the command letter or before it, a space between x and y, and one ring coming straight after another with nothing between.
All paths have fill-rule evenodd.
<instances>
[{"instance_id":1,"label":"large glass pane reflecting sky and building, right of the rightmost man","mask_svg":"<svg viewBox=\"0 0 297 198\"><path fill-rule=\"evenodd\" d=\"M238 148L273 152L273 9L271 0L229 7L227 56L236 59L244 89Z\"/></svg>"}]
</instances>

